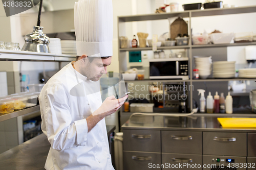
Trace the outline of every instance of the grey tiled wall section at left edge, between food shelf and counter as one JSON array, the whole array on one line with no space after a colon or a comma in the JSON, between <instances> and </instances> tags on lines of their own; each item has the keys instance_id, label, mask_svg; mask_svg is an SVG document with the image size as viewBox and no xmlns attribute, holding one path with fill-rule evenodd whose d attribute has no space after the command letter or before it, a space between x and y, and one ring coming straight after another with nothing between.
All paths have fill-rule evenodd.
<instances>
[{"instance_id":1,"label":"grey tiled wall section at left edge, between food shelf and counter","mask_svg":"<svg viewBox=\"0 0 256 170\"><path fill-rule=\"evenodd\" d=\"M0 154L23 143L22 116L0 122Z\"/></svg>"}]
</instances>

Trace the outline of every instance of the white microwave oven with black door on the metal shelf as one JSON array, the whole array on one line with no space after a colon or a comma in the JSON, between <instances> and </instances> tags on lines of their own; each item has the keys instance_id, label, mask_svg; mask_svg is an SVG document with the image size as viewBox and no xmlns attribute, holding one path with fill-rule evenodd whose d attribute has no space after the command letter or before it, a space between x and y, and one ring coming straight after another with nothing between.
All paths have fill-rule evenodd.
<instances>
[{"instance_id":1,"label":"white microwave oven with black door on the metal shelf","mask_svg":"<svg viewBox=\"0 0 256 170\"><path fill-rule=\"evenodd\" d=\"M161 58L150 60L150 79L188 80L188 58Z\"/></svg>"}]
</instances>

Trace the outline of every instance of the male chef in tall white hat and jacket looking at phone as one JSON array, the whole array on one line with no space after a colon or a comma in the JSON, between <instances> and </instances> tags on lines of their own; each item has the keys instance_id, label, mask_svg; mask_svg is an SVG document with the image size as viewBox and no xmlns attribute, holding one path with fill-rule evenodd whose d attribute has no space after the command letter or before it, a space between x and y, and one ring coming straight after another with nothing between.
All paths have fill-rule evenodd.
<instances>
[{"instance_id":1,"label":"male chef in tall white hat and jacket looking at phone","mask_svg":"<svg viewBox=\"0 0 256 170\"><path fill-rule=\"evenodd\" d=\"M41 129L51 144L46 169L114 169L104 117L119 109L121 99L102 103L99 79L111 64L111 0L81 0L74 8L77 58L63 67L39 95Z\"/></svg>"}]
</instances>

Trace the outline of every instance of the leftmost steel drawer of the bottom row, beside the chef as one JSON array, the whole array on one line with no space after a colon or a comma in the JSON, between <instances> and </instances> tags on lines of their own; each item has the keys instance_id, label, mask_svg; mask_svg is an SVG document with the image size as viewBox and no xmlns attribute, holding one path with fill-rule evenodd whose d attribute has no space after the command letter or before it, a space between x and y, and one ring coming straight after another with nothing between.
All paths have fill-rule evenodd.
<instances>
[{"instance_id":1,"label":"leftmost steel drawer of the bottom row, beside the chef","mask_svg":"<svg viewBox=\"0 0 256 170\"><path fill-rule=\"evenodd\" d=\"M160 165L160 164L161 164L160 153L123 151L123 169L124 170L161 169L161 168L153 168L154 165L156 165L157 167L157 165Z\"/></svg>"}]
</instances>

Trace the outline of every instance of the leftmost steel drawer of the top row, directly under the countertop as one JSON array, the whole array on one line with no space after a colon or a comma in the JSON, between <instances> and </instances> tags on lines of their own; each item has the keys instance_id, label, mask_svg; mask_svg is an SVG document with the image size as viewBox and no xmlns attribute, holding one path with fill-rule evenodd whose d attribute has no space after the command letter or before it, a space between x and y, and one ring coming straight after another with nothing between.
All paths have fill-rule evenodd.
<instances>
[{"instance_id":1,"label":"leftmost steel drawer of the top row, directly under the countertop","mask_svg":"<svg viewBox=\"0 0 256 170\"><path fill-rule=\"evenodd\" d=\"M123 150L161 152L160 131L123 130Z\"/></svg>"}]
</instances>

